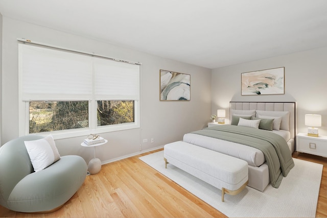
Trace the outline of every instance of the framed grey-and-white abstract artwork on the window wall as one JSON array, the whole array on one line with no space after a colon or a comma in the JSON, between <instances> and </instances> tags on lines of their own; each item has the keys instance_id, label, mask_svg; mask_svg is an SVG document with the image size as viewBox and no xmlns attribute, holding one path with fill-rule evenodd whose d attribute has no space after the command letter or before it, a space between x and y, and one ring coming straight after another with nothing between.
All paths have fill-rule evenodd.
<instances>
[{"instance_id":1,"label":"framed grey-and-white abstract artwork on the window wall","mask_svg":"<svg viewBox=\"0 0 327 218\"><path fill-rule=\"evenodd\" d=\"M160 69L160 101L190 101L191 75Z\"/></svg>"}]
</instances>

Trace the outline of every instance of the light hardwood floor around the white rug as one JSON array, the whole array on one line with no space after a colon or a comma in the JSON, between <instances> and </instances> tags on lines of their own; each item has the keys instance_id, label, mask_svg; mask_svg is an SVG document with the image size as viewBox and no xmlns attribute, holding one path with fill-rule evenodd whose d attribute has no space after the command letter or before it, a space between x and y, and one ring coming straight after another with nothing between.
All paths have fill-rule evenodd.
<instances>
[{"instance_id":1,"label":"light hardwood floor around the white rug","mask_svg":"<svg viewBox=\"0 0 327 218\"><path fill-rule=\"evenodd\" d=\"M53 213L20 213L0 206L0 217L226 217L138 159L153 152L103 165ZM316 217L327 217L327 158L296 152L293 157L324 165Z\"/></svg>"}]
</instances>

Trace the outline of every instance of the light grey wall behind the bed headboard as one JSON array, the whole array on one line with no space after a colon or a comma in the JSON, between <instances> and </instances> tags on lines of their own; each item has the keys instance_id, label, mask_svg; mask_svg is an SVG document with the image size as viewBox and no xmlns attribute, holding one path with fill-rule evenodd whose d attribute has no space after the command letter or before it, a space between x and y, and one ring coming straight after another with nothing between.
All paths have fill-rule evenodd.
<instances>
[{"instance_id":1,"label":"light grey wall behind the bed headboard","mask_svg":"<svg viewBox=\"0 0 327 218\"><path fill-rule=\"evenodd\" d=\"M320 135L327 135L327 47L212 70L212 113L229 101L297 102L297 130L307 132L305 114L322 115ZM241 95L241 73L285 67L285 94Z\"/></svg>"}]
</instances>

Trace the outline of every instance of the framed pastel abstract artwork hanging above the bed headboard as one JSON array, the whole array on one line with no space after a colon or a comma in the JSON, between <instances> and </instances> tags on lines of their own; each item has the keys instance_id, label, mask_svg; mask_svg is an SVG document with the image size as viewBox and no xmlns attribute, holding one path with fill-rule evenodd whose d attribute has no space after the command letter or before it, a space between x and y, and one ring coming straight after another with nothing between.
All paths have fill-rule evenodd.
<instances>
[{"instance_id":1,"label":"framed pastel abstract artwork hanging above the bed headboard","mask_svg":"<svg viewBox=\"0 0 327 218\"><path fill-rule=\"evenodd\" d=\"M285 67L241 74L242 95L284 94Z\"/></svg>"}]
</instances>

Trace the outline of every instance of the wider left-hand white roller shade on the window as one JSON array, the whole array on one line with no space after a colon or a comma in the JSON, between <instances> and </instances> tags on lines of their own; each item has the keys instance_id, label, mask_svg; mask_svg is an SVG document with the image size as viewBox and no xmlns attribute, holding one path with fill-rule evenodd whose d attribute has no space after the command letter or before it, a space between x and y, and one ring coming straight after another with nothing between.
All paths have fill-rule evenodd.
<instances>
[{"instance_id":1,"label":"wider left-hand white roller shade on the window","mask_svg":"<svg viewBox=\"0 0 327 218\"><path fill-rule=\"evenodd\" d=\"M19 44L19 62L23 101L91 99L89 55Z\"/></svg>"}]
</instances>

